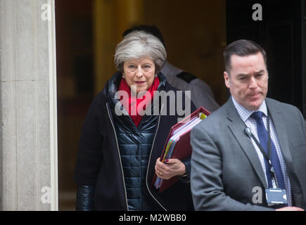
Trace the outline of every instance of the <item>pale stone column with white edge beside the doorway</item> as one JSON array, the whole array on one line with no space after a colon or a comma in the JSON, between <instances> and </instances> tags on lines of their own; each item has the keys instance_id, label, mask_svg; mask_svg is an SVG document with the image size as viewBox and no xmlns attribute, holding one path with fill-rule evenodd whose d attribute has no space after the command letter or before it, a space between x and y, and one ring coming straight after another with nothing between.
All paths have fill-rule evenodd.
<instances>
[{"instance_id":1,"label":"pale stone column with white edge beside the doorway","mask_svg":"<svg viewBox=\"0 0 306 225\"><path fill-rule=\"evenodd\" d=\"M0 0L0 210L58 210L54 0Z\"/></svg>"}]
</instances>

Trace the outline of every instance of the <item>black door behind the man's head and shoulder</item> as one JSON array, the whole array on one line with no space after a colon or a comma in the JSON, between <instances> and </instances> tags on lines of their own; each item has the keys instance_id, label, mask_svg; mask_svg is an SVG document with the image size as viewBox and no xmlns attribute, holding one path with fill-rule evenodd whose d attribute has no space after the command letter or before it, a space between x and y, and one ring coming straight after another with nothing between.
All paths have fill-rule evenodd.
<instances>
[{"instance_id":1,"label":"black door behind the man's head and shoulder","mask_svg":"<svg viewBox=\"0 0 306 225\"><path fill-rule=\"evenodd\" d=\"M262 21L252 18L262 5ZM305 0L227 1L227 41L251 39L267 52L268 96L300 108L306 117Z\"/></svg>"}]
</instances>

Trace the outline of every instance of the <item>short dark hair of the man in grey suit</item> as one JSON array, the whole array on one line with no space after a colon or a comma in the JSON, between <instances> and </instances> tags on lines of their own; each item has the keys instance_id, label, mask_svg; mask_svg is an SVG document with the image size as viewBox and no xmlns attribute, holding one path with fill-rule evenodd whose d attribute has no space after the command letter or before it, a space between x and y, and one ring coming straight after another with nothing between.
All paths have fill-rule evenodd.
<instances>
[{"instance_id":1,"label":"short dark hair of the man in grey suit","mask_svg":"<svg viewBox=\"0 0 306 225\"><path fill-rule=\"evenodd\" d=\"M231 70L231 56L250 56L259 52L262 53L264 64L267 68L267 54L264 49L262 49L262 46L255 41L244 39L232 42L223 52L225 71L229 74L229 70Z\"/></svg>"}]
</instances>

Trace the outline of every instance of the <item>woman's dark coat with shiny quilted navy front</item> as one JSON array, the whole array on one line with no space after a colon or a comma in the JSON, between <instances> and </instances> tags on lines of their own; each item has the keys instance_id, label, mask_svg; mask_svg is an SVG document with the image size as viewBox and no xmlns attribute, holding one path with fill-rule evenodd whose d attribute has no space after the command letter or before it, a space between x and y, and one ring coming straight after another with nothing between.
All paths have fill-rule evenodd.
<instances>
[{"instance_id":1,"label":"woman's dark coat with shiny quilted navy front","mask_svg":"<svg viewBox=\"0 0 306 225\"><path fill-rule=\"evenodd\" d=\"M177 93L164 75L158 76L158 91ZM137 129L129 116L119 117L115 113L120 79L120 72L113 75L94 98L84 121L74 175L78 185L77 210L193 210L188 179L181 179L161 194L151 186L155 160L162 153L170 128L181 116L177 112L170 115L170 98L160 99L160 104L153 104L151 110L159 107L159 112L167 113L144 115ZM194 110L191 103L191 112ZM134 155L137 149L140 151L136 158L127 157L127 151ZM183 162L190 175L190 159ZM140 171L135 175L131 165L139 163ZM133 191L134 179L142 182L141 189ZM133 200L134 195L141 198Z\"/></svg>"}]
</instances>

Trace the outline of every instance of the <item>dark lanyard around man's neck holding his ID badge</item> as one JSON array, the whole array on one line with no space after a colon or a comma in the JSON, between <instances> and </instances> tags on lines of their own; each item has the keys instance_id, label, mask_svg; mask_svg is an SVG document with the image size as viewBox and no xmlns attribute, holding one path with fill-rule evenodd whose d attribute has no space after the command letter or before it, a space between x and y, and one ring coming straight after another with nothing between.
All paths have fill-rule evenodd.
<instances>
[{"instance_id":1,"label":"dark lanyard around man's neck holding his ID badge","mask_svg":"<svg viewBox=\"0 0 306 225\"><path fill-rule=\"evenodd\" d=\"M252 138L255 141L255 143L258 146L258 148L260 148L260 151L261 151L262 155L264 156L264 158L269 163L270 176L271 176L271 179L272 179L272 186L273 186L273 188L278 188L279 184L277 183L274 167L272 166L272 162L270 160L270 155L271 155L271 136L270 136L270 117L269 117L269 113L268 113L268 116L267 116L267 128L268 128L268 143L267 143L267 153L268 154L264 151L264 149L262 148L262 145L259 143L259 141L257 141L257 139L255 138L254 134L252 134L252 132L250 131L249 127L246 127L246 134L248 134L248 136L250 136L250 138Z\"/></svg>"}]
</instances>

